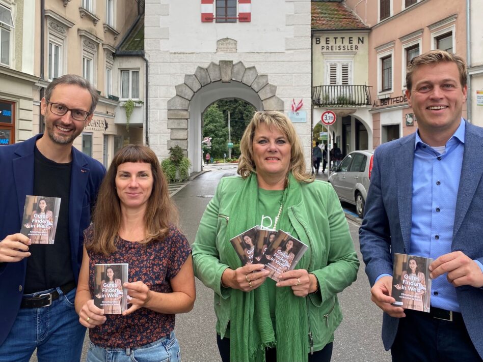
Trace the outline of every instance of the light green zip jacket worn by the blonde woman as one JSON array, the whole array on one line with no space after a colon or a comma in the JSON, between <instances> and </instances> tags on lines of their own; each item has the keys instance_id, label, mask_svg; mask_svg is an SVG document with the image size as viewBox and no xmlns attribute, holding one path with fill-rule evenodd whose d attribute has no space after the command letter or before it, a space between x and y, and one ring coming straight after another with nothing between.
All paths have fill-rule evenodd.
<instances>
[{"instance_id":1,"label":"light green zip jacket worn by the blonde woman","mask_svg":"<svg viewBox=\"0 0 483 362\"><path fill-rule=\"evenodd\" d=\"M221 179L216 194L206 207L192 246L195 275L214 291L216 330L222 338L231 313L231 289L221 286L221 276L229 267L223 250L232 248L226 240L226 229L234 195L244 182L237 176ZM290 207L288 215L299 238L309 246L307 270L315 275L319 285L318 293L306 297L307 334L312 335L313 350L317 351L334 340L334 331L342 321L337 293L356 280L359 260L332 186L318 180L300 185L302 202Z\"/></svg>"}]
</instances>

